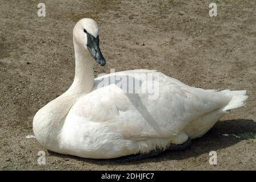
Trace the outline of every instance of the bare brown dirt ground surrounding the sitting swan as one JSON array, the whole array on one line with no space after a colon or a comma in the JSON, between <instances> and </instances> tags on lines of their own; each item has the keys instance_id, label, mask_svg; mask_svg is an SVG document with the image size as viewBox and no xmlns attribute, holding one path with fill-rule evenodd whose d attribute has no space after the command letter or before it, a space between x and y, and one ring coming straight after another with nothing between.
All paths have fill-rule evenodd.
<instances>
[{"instance_id":1,"label":"bare brown dirt ground surrounding the sitting swan","mask_svg":"<svg viewBox=\"0 0 256 182\"><path fill-rule=\"evenodd\" d=\"M256 169L256 1L41 1L0 0L0 170ZM120 164L47 151L33 135L34 114L74 78L72 30L81 18L97 20L105 67L95 76L128 69L159 69L186 84L247 90L247 106L232 110L185 151ZM94 61L95 62L95 61ZM229 134L225 136L223 134ZM38 151L46 164L37 163ZM209 164L216 151L217 165Z\"/></svg>"}]
</instances>

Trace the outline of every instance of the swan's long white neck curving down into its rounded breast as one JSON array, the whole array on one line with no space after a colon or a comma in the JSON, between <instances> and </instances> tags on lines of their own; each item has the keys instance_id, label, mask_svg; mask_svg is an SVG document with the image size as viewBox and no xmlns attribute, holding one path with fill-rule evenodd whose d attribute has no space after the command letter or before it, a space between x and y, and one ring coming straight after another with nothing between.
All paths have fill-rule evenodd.
<instances>
[{"instance_id":1,"label":"swan's long white neck curving down into its rounded breast","mask_svg":"<svg viewBox=\"0 0 256 182\"><path fill-rule=\"evenodd\" d=\"M94 84L91 55L85 48L79 47L74 40L75 78L70 88L55 100L49 102L35 114L33 130L37 140L54 151L66 115L79 97L90 93ZM56 142L57 144L57 142Z\"/></svg>"}]
</instances>

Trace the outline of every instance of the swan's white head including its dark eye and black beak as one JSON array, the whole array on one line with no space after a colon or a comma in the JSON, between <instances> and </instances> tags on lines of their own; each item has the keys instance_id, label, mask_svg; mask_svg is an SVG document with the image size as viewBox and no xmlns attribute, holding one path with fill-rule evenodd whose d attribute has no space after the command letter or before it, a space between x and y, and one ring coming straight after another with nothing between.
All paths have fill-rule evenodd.
<instances>
[{"instance_id":1,"label":"swan's white head including its dark eye and black beak","mask_svg":"<svg viewBox=\"0 0 256 182\"><path fill-rule=\"evenodd\" d=\"M75 24L73 38L80 47L87 49L91 53L97 63L103 66L106 64L106 60L99 48L98 32L98 24L93 19L83 18Z\"/></svg>"}]
</instances>

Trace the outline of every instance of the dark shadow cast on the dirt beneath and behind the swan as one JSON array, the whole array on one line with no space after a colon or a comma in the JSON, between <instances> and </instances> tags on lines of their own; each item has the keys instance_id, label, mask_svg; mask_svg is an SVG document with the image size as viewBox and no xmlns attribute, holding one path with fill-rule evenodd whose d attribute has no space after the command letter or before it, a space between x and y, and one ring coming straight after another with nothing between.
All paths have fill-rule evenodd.
<instances>
[{"instance_id":1,"label":"dark shadow cast on the dirt beneath and behind the swan","mask_svg":"<svg viewBox=\"0 0 256 182\"><path fill-rule=\"evenodd\" d=\"M229 136L223 136L229 134ZM242 136L242 137L239 137ZM222 148L233 146L241 142L241 140L255 140L256 137L256 122L251 119L235 119L226 120L216 123L216 125L202 138L192 140L191 146L184 151L166 151L162 152L158 157L139 160L137 162L119 163L117 159L84 159L76 156L57 154L49 151L50 155L58 158L76 159L86 163L93 163L102 166L115 165L131 165L150 162L159 162L166 160L183 160L193 158L202 154L209 154L210 151L217 151Z\"/></svg>"}]
</instances>

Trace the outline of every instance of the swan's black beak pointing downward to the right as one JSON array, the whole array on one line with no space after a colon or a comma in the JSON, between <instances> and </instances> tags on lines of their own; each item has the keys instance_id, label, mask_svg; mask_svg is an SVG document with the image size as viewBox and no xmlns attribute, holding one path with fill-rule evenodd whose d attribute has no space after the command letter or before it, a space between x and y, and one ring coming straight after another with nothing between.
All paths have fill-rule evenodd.
<instances>
[{"instance_id":1,"label":"swan's black beak pointing downward to the right","mask_svg":"<svg viewBox=\"0 0 256 182\"><path fill-rule=\"evenodd\" d=\"M88 32L86 34L87 34L86 46L90 51L91 56L93 56L95 61L97 61L97 63L99 63L101 66L105 65L106 60L101 53L101 49L99 48L99 36L95 38L93 35L89 34Z\"/></svg>"}]
</instances>

